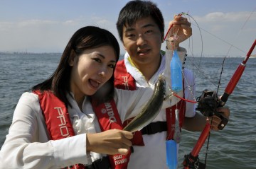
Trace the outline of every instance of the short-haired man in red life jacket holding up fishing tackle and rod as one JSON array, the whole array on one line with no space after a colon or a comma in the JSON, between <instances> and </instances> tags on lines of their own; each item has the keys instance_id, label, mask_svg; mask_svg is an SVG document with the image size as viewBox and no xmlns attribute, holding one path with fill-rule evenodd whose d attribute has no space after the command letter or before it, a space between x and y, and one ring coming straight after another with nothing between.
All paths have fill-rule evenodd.
<instances>
[{"instance_id":1,"label":"short-haired man in red life jacket holding up fishing tackle and rod","mask_svg":"<svg viewBox=\"0 0 256 169\"><path fill-rule=\"evenodd\" d=\"M159 74L169 71L166 68L169 67L174 49L177 49L181 62L185 60L186 49L179 47L179 43L192 35L191 23L181 16L175 16L170 25L172 23L174 27L166 39L167 49L164 56L161 52L161 43L164 42L164 18L156 4L151 1L129 1L122 8L117 21L117 30L127 52L124 60L118 62L115 70L117 88L126 90L154 88ZM195 91L193 74L183 69L183 76L183 92L178 94L193 100L194 97L191 95L191 91ZM168 86L171 86L170 82ZM148 127L137 133L142 134L143 140L133 141L134 152L130 157L128 168L167 168L166 139L177 139L174 138L175 110L179 112L179 125L183 129L200 131L205 127L206 117L195 112L195 105L192 103L181 100L175 106L162 110ZM229 114L228 109L222 108L220 111ZM214 117L212 128L217 129L219 123L220 119Z\"/></svg>"}]
</instances>

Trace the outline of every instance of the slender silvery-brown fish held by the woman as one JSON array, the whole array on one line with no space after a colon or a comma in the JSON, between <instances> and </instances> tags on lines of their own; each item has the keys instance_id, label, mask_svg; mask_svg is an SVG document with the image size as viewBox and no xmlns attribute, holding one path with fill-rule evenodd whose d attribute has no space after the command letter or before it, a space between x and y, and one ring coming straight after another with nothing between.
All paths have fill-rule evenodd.
<instances>
[{"instance_id":1,"label":"slender silvery-brown fish held by the woman","mask_svg":"<svg viewBox=\"0 0 256 169\"><path fill-rule=\"evenodd\" d=\"M165 77L160 74L154 85L154 91L149 102L142 108L142 112L139 112L139 114L134 117L123 130L136 132L151 123L161 110L165 98L165 91L166 80Z\"/></svg>"}]
</instances>

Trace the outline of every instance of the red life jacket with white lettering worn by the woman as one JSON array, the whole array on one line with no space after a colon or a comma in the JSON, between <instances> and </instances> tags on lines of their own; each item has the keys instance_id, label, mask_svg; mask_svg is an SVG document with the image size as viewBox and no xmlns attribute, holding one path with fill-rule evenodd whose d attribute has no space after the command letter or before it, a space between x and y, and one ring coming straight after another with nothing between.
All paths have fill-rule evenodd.
<instances>
[{"instance_id":1,"label":"red life jacket with white lettering worn by the woman","mask_svg":"<svg viewBox=\"0 0 256 169\"><path fill-rule=\"evenodd\" d=\"M50 91L44 91L43 93L40 91L33 91L33 93L38 95L50 139L58 140L69 136L75 136L68 114L68 108L65 104ZM92 101L92 107L102 131L108 129L123 129L114 100L110 103L101 105L96 105L95 102ZM129 151L125 156L120 154L109 156L111 168L127 168L130 153L131 152ZM81 164L76 164L74 168L86 169L85 165Z\"/></svg>"}]
</instances>

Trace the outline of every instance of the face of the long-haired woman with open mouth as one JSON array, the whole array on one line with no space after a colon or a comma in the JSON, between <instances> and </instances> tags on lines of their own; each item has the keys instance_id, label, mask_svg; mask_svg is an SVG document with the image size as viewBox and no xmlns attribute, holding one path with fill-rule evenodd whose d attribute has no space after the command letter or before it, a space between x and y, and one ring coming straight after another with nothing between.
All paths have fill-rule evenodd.
<instances>
[{"instance_id":1,"label":"face of the long-haired woman with open mouth","mask_svg":"<svg viewBox=\"0 0 256 169\"><path fill-rule=\"evenodd\" d=\"M85 95L93 95L113 74L116 64L114 49L102 46L87 49L80 56L70 60L70 89L78 101Z\"/></svg>"}]
</instances>

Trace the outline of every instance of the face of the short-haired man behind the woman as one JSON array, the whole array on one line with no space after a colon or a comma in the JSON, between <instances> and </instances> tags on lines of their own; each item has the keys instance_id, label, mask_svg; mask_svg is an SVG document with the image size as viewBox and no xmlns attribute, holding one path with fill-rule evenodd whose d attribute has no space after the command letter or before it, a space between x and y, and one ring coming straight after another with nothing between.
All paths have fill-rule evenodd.
<instances>
[{"instance_id":1,"label":"face of the short-haired man behind the woman","mask_svg":"<svg viewBox=\"0 0 256 169\"><path fill-rule=\"evenodd\" d=\"M132 62L137 66L155 63L159 59L161 35L158 25L151 17L141 18L134 25L123 27L123 45Z\"/></svg>"}]
</instances>

